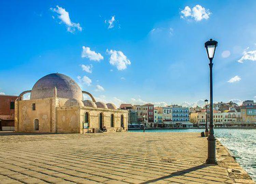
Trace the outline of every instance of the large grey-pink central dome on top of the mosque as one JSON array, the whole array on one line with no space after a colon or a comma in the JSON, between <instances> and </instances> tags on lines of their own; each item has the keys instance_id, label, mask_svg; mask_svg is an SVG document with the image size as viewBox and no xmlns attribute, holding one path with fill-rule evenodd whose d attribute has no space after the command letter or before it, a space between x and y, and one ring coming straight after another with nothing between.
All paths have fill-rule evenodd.
<instances>
[{"instance_id":1,"label":"large grey-pink central dome on top of the mosque","mask_svg":"<svg viewBox=\"0 0 256 184\"><path fill-rule=\"evenodd\" d=\"M32 88L30 99L54 97L54 89L57 89L57 97L74 98L83 100L81 88L77 83L63 74L49 74L39 79Z\"/></svg>"}]
</instances>

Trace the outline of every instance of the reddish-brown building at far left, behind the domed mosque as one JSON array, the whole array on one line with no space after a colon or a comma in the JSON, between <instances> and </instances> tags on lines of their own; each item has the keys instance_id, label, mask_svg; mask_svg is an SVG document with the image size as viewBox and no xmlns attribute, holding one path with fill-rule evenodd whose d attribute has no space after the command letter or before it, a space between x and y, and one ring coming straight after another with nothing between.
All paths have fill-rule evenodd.
<instances>
[{"instance_id":1,"label":"reddish-brown building at far left, behind the domed mosque","mask_svg":"<svg viewBox=\"0 0 256 184\"><path fill-rule=\"evenodd\" d=\"M16 95L0 95L0 131L14 131Z\"/></svg>"}]
</instances>

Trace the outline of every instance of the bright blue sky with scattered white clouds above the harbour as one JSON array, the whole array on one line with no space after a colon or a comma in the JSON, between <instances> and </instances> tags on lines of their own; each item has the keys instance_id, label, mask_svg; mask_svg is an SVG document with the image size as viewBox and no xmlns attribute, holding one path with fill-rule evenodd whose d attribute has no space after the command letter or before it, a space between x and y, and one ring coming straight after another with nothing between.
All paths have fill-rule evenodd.
<instances>
[{"instance_id":1,"label":"bright blue sky with scattered white clouds above the harbour","mask_svg":"<svg viewBox=\"0 0 256 184\"><path fill-rule=\"evenodd\" d=\"M256 1L1 1L0 93L58 72L99 101L200 105L209 98L204 42L213 38L214 101L254 99L255 9Z\"/></svg>"}]
</instances>

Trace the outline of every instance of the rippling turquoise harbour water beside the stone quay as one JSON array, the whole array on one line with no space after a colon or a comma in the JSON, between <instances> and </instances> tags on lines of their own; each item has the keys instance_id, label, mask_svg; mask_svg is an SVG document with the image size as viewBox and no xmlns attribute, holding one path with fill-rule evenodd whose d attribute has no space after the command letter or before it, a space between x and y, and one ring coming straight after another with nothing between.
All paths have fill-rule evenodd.
<instances>
[{"instance_id":1,"label":"rippling turquoise harbour water beside the stone quay","mask_svg":"<svg viewBox=\"0 0 256 184\"><path fill-rule=\"evenodd\" d=\"M146 129L145 132L203 132L204 129ZM142 132L142 130L129 130ZM236 157L237 162L256 181L256 129L214 129L215 137Z\"/></svg>"}]
</instances>

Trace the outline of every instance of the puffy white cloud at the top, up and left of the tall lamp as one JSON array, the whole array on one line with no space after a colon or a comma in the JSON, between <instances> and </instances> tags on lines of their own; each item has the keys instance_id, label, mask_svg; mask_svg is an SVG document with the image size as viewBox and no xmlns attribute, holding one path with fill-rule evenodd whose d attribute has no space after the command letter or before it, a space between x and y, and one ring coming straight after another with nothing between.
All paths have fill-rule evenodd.
<instances>
[{"instance_id":1,"label":"puffy white cloud at the top, up and left of the tall lamp","mask_svg":"<svg viewBox=\"0 0 256 184\"><path fill-rule=\"evenodd\" d=\"M189 6L186 6L184 10L181 11L181 18L194 18L196 21L201 21L202 19L208 19L210 17L210 10L206 10L201 5L197 4L191 10Z\"/></svg>"}]
</instances>

